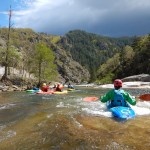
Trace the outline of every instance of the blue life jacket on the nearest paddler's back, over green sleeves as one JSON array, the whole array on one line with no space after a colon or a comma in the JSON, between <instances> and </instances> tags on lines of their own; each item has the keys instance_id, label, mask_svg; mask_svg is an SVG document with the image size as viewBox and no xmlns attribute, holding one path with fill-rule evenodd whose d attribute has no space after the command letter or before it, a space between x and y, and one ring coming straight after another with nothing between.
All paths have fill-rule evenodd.
<instances>
[{"instance_id":1,"label":"blue life jacket on the nearest paddler's back, over green sleeves","mask_svg":"<svg viewBox=\"0 0 150 150\"><path fill-rule=\"evenodd\" d=\"M111 107L116 106L127 106L127 102L123 97L124 90L115 90L114 89L114 99L111 100Z\"/></svg>"}]
</instances>

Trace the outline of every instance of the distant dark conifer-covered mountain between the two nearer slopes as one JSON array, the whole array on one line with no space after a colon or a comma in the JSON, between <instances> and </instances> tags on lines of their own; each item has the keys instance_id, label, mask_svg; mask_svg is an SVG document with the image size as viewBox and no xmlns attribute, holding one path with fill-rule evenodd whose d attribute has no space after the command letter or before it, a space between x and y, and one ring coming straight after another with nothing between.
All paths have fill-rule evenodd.
<instances>
[{"instance_id":1,"label":"distant dark conifer-covered mountain between the two nearer slopes","mask_svg":"<svg viewBox=\"0 0 150 150\"><path fill-rule=\"evenodd\" d=\"M75 61L89 70L91 79L95 80L98 67L133 41L134 37L110 38L75 30L62 37L60 42Z\"/></svg>"}]
</instances>

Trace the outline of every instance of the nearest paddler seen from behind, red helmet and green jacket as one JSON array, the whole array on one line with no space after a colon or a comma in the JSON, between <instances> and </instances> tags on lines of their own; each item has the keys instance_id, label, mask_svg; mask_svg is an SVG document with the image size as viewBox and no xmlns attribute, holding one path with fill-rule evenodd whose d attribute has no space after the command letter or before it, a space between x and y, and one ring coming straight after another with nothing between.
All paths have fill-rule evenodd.
<instances>
[{"instance_id":1,"label":"nearest paddler seen from behind, red helmet and green jacket","mask_svg":"<svg viewBox=\"0 0 150 150\"><path fill-rule=\"evenodd\" d=\"M100 97L100 101L105 103L110 101L108 107L115 106L127 106L127 102L131 105L136 105L136 100L132 96L122 89L122 81L116 79L114 81L114 89L108 91L105 95Z\"/></svg>"}]
</instances>

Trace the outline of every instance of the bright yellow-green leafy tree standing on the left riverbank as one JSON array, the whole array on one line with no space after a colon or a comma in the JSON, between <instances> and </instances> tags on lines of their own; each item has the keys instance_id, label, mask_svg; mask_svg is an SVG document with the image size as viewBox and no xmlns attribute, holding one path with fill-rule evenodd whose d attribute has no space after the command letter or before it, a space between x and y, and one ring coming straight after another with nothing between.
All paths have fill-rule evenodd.
<instances>
[{"instance_id":1,"label":"bright yellow-green leafy tree standing on the left riverbank","mask_svg":"<svg viewBox=\"0 0 150 150\"><path fill-rule=\"evenodd\" d=\"M39 83L42 80L57 79L57 67L54 64L53 51L46 46L45 43L38 43L35 45L35 52L33 55L33 73L38 76Z\"/></svg>"}]
</instances>

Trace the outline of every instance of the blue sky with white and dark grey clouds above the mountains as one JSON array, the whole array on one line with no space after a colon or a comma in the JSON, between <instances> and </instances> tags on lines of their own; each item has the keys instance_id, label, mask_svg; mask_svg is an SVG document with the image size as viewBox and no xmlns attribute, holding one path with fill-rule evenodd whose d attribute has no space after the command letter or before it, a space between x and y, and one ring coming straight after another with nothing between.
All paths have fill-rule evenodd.
<instances>
[{"instance_id":1,"label":"blue sky with white and dark grey clouds above the mountains","mask_svg":"<svg viewBox=\"0 0 150 150\"><path fill-rule=\"evenodd\" d=\"M64 35L84 30L110 37L150 33L150 0L0 0L0 27Z\"/></svg>"}]
</instances>

